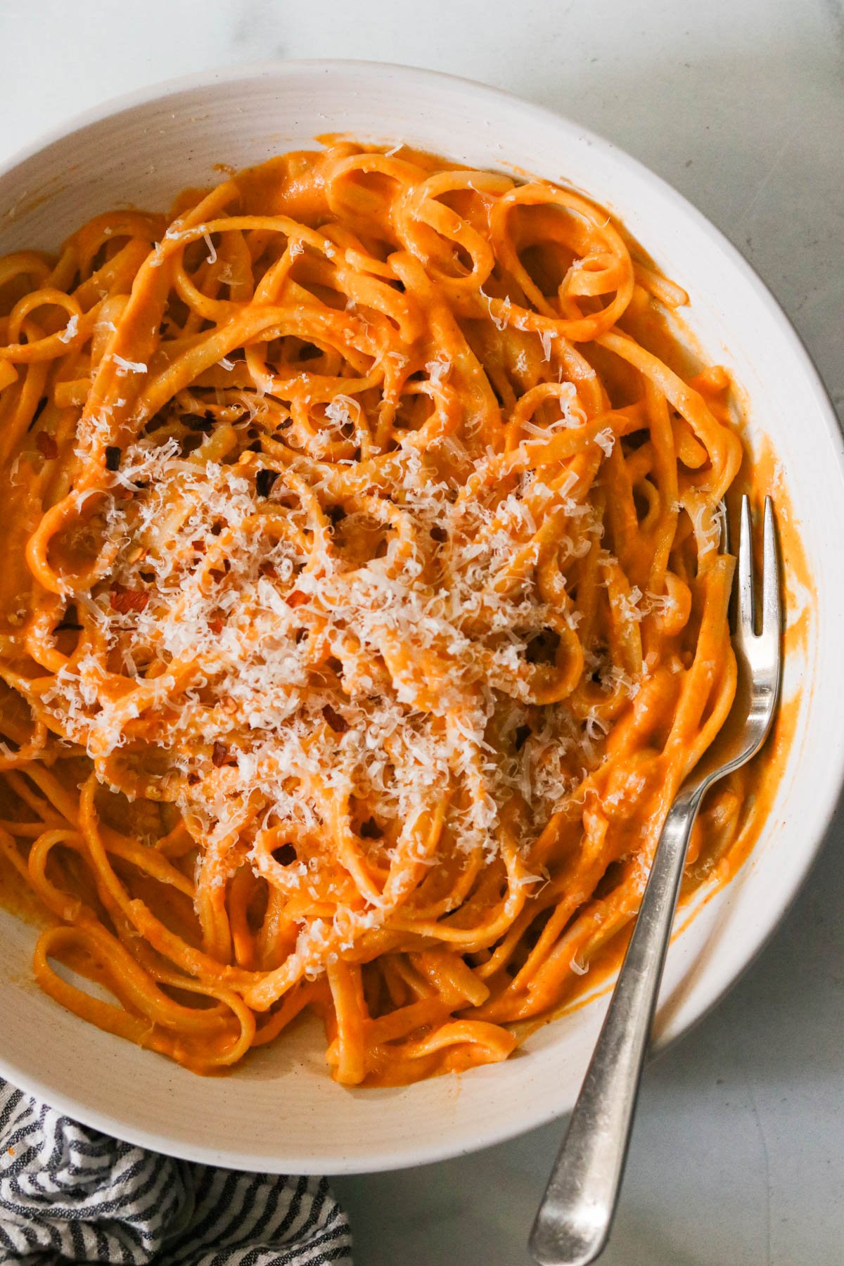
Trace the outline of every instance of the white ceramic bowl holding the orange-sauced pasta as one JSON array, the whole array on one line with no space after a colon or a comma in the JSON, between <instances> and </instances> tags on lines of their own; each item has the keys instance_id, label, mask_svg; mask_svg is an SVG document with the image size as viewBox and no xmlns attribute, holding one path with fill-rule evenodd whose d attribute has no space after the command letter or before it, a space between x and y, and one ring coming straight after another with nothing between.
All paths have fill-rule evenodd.
<instances>
[{"instance_id":1,"label":"white ceramic bowl holding the orange-sauced pasta","mask_svg":"<svg viewBox=\"0 0 844 1266\"><path fill-rule=\"evenodd\" d=\"M678 194L614 146L506 94L425 71L289 62L195 76L110 103L0 175L0 252L54 248L120 203L158 209L214 163L256 163L314 137L405 141L480 167L507 163L586 190L611 208L691 295L691 325L729 363L767 434L814 576L796 738L763 838L738 877L676 938L661 1041L730 985L805 876L836 801L844 752L841 437L791 325L748 265ZM809 599L792 595L795 604ZM332 1082L314 1028L261 1048L232 1076L202 1079L100 1033L43 996L29 967L34 931L0 913L0 1072L111 1134L238 1169L343 1172L467 1152L538 1125L574 1101L604 1003L547 1025L515 1058L399 1090Z\"/></svg>"}]
</instances>

